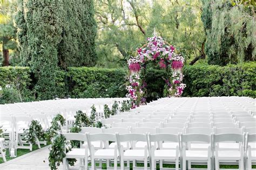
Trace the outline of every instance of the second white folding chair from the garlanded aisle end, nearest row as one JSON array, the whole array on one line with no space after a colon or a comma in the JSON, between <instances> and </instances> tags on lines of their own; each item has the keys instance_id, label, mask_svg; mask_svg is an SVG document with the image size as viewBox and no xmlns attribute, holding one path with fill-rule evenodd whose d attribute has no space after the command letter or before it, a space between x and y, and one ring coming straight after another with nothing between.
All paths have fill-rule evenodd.
<instances>
[{"instance_id":1,"label":"second white folding chair from the garlanded aisle end, nearest row","mask_svg":"<svg viewBox=\"0 0 256 170\"><path fill-rule=\"evenodd\" d=\"M89 134L86 133L87 140L89 143L89 150L91 155L91 169L94 170L96 168L95 159L106 159L106 166L110 168L109 160L114 160L114 169L117 170L117 159L119 157L117 151L117 145L114 148L109 148L109 141L117 141L116 134L109 134L109 133L96 133L96 134ZM105 147L100 148L95 151L95 147L91 144L92 141L104 141Z\"/></svg>"}]
</instances>

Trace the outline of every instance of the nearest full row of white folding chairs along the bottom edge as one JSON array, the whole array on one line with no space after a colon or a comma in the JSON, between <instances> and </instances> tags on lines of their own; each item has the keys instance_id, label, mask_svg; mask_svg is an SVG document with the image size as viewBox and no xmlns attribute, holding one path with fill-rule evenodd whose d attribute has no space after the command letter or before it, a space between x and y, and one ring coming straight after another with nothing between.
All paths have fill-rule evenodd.
<instances>
[{"instance_id":1,"label":"nearest full row of white folding chairs along the bottom edge","mask_svg":"<svg viewBox=\"0 0 256 170\"><path fill-rule=\"evenodd\" d=\"M219 169L219 162L226 161L239 161L239 169L244 169L244 147L246 146L246 137L245 134L170 134L170 133L160 133L160 134L108 134L108 133L98 133L98 134L77 134L77 133L66 133L64 134L67 140L82 140L87 141L88 146L85 146L85 149L76 149L73 148L70 152L66 153L66 158L80 158L85 159L85 168L87 169L87 160L89 157L91 159L92 169L95 168L95 159L112 159L114 160L114 169L117 169L117 161L120 160L121 169L124 169L124 161L127 160L144 160L144 169L147 169L147 162L151 160L152 169L154 169L154 165L156 160L171 160L176 162L176 169L178 169L179 160L183 160L183 169L186 169L186 161L206 161L207 168L212 168L212 160L215 156L215 169ZM253 139L255 134L249 135L247 137L247 141L255 141ZM114 148L102 148L97 151L94 150L93 145L91 145L92 141L114 141L117 143L117 146ZM130 147L129 150L124 150L121 143L126 143L130 141L142 141L147 143L144 149L139 148L136 149L134 145ZM164 148L159 148L156 150L156 146L151 146L152 143L160 141L171 141L174 143L178 143L179 145L176 149L166 150ZM191 143L193 141L208 143L210 146L205 151L198 150L187 150L187 143ZM215 143L220 143L223 141L237 141L242 143L240 150L233 151L223 151L218 148L218 145ZM89 153L87 152L87 148L89 148ZM84 153L75 154L76 152ZM214 152L215 151L215 152ZM178 153L177 153L178 152ZM118 154L119 153L119 154ZM215 154L214 154L215 153ZM232 157L231 157L232 155ZM80 157L79 157L80 156ZM248 158L251 158L251 155L248 155ZM66 158L64 158L64 169L66 167ZM127 164L129 165L129 164Z\"/></svg>"}]
</instances>

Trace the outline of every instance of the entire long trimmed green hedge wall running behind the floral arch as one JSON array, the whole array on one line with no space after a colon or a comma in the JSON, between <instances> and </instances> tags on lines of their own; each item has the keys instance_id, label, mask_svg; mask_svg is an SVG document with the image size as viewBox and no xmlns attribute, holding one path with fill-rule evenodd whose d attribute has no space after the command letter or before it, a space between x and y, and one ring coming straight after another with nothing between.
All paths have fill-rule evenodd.
<instances>
[{"instance_id":1,"label":"entire long trimmed green hedge wall running behind the floral arch","mask_svg":"<svg viewBox=\"0 0 256 170\"><path fill-rule=\"evenodd\" d=\"M56 91L52 97L124 97L127 70L70 67L56 71ZM183 96L251 96L256 97L256 62L240 65L185 66ZM36 88L28 67L0 67L0 103L32 101ZM163 96L163 70L147 69L147 97ZM11 88L5 88L10 84Z\"/></svg>"}]
</instances>

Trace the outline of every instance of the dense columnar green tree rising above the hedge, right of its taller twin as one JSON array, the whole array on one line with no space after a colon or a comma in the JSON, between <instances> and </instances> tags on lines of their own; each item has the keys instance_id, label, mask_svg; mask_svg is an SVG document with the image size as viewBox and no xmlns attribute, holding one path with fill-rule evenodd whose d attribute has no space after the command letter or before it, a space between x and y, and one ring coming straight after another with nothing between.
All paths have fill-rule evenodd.
<instances>
[{"instance_id":1,"label":"dense columnar green tree rising above the hedge, right of its taller twin","mask_svg":"<svg viewBox=\"0 0 256 170\"><path fill-rule=\"evenodd\" d=\"M92 0L63 2L62 41L58 44L59 66L94 66L97 60L97 24Z\"/></svg>"}]
</instances>

